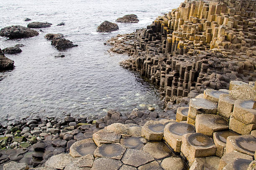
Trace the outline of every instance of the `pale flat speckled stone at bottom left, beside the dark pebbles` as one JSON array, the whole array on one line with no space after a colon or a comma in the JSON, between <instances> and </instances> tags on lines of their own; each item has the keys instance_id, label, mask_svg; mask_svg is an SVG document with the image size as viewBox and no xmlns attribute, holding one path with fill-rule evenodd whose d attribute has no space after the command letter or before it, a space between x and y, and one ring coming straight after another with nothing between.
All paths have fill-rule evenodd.
<instances>
[{"instance_id":1,"label":"pale flat speckled stone at bottom left, beside the dark pebbles","mask_svg":"<svg viewBox=\"0 0 256 170\"><path fill-rule=\"evenodd\" d=\"M74 158L68 153L61 153L59 155L54 155L49 160L46 161L45 166L49 168L56 168L63 170L66 165L72 162Z\"/></svg>"}]
</instances>

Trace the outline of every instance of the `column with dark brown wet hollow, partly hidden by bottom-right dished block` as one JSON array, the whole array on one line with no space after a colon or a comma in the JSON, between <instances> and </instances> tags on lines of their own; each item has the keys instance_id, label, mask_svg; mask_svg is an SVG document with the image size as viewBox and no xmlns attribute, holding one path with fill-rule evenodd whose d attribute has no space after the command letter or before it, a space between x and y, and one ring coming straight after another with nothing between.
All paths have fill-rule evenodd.
<instances>
[{"instance_id":1,"label":"column with dark brown wet hollow, partly hidden by bottom-right dished block","mask_svg":"<svg viewBox=\"0 0 256 170\"><path fill-rule=\"evenodd\" d=\"M214 132L213 133L213 141L217 147L215 155L218 157L222 157L223 153L225 153L224 150L226 147L228 136L236 136L236 135L238 135L238 134L234 133L230 130Z\"/></svg>"}]
</instances>

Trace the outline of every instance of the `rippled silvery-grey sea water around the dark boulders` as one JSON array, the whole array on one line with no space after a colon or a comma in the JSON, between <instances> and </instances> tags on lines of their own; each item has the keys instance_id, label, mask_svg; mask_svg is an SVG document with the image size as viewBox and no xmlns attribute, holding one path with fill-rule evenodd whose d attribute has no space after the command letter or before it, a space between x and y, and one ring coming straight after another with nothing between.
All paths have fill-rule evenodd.
<instances>
[{"instance_id":1,"label":"rippled silvery-grey sea water around the dark boulders","mask_svg":"<svg viewBox=\"0 0 256 170\"><path fill-rule=\"evenodd\" d=\"M110 55L103 43L117 34L145 28L154 18L178 7L182 0L0 0L0 28L49 22L50 28L36 37L8 40L0 37L0 48L22 43L15 69L0 72L0 122L28 115L104 115L110 108L131 111L140 104L161 111L159 92L119 62L128 56ZM97 33L104 20L114 22L127 14L139 23L118 23L119 30ZM32 21L24 22L24 18ZM64 22L64 26L56 26ZM38 31L40 29L37 29ZM59 52L44 39L47 33L62 33L79 45ZM55 57L64 54L65 57Z\"/></svg>"}]
</instances>

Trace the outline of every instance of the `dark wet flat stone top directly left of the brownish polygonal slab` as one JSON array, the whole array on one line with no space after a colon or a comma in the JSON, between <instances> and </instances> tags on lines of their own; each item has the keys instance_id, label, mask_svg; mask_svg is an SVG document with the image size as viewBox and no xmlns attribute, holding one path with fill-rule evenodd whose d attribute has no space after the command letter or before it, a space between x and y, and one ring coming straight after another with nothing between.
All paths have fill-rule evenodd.
<instances>
[{"instance_id":1,"label":"dark wet flat stone top directly left of the brownish polygonal slab","mask_svg":"<svg viewBox=\"0 0 256 170\"><path fill-rule=\"evenodd\" d=\"M144 144L147 143L145 138L140 137L122 137L120 143L129 149L143 150Z\"/></svg>"}]
</instances>

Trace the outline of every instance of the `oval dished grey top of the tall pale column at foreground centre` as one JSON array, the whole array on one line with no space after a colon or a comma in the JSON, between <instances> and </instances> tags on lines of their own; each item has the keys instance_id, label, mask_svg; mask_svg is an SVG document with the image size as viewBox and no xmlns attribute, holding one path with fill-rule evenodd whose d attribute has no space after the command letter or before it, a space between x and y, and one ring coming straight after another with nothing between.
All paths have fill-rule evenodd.
<instances>
[{"instance_id":1,"label":"oval dished grey top of the tall pale column at foreground centre","mask_svg":"<svg viewBox=\"0 0 256 170\"><path fill-rule=\"evenodd\" d=\"M172 123L169 131L175 135L182 136L186 133L195 133L195 127L187 123Z\"/></svg>"}]
</instances>

